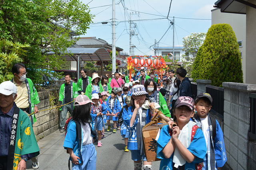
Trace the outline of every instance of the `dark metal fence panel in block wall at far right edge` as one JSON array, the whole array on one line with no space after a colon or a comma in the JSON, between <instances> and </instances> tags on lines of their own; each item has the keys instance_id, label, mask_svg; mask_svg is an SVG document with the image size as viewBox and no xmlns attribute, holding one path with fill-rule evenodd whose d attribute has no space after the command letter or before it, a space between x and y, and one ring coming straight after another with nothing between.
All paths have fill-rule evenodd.
<instances>
[{"instance_id":1,"label":"dark metal fence panel in block wall at far right edge","mask_svg":"<svg viewBox=\"0 0 256 170\"><path fill-rule=\"evenodd\" d=\"M250 129L248 135L256 139L256 94L250 93Z\"/></svg>"}]
</instances>

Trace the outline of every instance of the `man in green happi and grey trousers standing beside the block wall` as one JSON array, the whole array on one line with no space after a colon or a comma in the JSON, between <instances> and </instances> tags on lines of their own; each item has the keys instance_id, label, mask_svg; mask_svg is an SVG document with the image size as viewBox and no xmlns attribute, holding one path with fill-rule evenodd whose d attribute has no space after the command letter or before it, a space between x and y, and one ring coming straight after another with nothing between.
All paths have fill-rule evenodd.
<instances>
[{"instance_id":1,"label":"man in green happi and grey trousers standing beside the block wall","mask_svg":"<svg viewBox=\"0 0 256 170\"><path fill-rule=\"evenodd\" d=\"M65 82L60 86L60 95L59 102L60 105L64 105L60 107L60 132L64 132L64 125L66 123L67 111L72 115L74 109L73 100L78 96L76 84L70 82L71 75L69 73L65 74Z\"/></svg>"}]
</instances>

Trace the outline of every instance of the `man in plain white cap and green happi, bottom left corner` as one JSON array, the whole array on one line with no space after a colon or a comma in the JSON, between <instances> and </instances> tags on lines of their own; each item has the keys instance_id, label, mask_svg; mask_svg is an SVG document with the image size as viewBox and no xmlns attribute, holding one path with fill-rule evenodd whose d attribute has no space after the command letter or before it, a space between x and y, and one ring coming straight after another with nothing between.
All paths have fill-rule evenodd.
<instances>
[{"instance_id":1,"label":"man in plain white cap and green happi, bottom left corner","mask_svg":"<svg viewBox=\"0 0 256 170\"><path fill-rule=\"evenodd\" d=\"M39 154L29 117L17 107L17 88L10 81L0 84L0 169L25 170L26 161Z\"/></svg>"}]
</instances>

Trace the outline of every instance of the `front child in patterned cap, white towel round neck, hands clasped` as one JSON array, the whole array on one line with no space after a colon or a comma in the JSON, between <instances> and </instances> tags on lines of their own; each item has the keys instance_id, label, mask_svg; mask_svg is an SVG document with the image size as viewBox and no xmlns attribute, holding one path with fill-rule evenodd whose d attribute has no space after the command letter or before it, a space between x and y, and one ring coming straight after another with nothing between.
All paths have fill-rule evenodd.
<instances>
[{"instance_id":1,"label":"front child in patterned cap, white towel round neck, hands clasped","mask_svg":"<svg viewBox=\"0 0 256 170\"><path fill-rule=\"evenodd\" d=\"M194 116L194 100L187 96L177 99L174 121L162 127L157 140L156 157L162 159L160 170L195 170L204 160L206 143L204 134L190 118Z\"/></svg>"}]
</instances>

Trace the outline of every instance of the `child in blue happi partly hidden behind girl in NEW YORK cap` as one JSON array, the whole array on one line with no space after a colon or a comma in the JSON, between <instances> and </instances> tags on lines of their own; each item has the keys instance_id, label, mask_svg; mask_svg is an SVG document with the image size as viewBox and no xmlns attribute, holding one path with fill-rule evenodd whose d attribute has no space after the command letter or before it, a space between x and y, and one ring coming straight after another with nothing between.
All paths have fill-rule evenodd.
<instances>
[{"instance_id":1,"label":"child in blue happi partly hidden behind girl in NEW YORK cap","mask_svg":"<svg viewBox=\"0 0 256 170\"><path fill-rule=\"evenodd\" d=\"M128 137L129 137L129 130L130 128L127 127L127 125L123 122L123 117L125 117L123 113L123 110L125 109L126 112L128 111L128 107L131 106L131 96L126 96L125 98L125 104L124 107L122 108L122 110L120 111L120 114L119 114L119 121L120 123L122 123L121 125L121 128L120 128L120 133L121 133L121 136L124 138L124 144L125 144L125 147L124 147L124 152L129 152L129 149L127 149L127 144L128 144Z\"/></svg>"}]
</instances>

